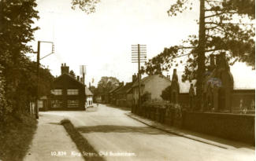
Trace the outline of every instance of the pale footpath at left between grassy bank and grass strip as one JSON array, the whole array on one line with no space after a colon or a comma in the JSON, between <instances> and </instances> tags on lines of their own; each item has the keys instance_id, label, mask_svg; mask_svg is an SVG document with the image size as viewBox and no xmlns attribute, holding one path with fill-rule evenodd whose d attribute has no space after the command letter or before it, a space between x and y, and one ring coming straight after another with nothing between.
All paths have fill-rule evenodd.
<instances>
[{"instance_id":1,"label":"pale footpath at left between grassy bank and grass strip","mask_svg":"<svg viewBox=\"0 0 256 161\"><path fill-rule=\"evenodd\" d=\"M76 155L79 150L64 126L59 124L62 119L59 115L39 115L38 128L24 161L83 160L82 156Z\"/></svg>"}]
</instances>

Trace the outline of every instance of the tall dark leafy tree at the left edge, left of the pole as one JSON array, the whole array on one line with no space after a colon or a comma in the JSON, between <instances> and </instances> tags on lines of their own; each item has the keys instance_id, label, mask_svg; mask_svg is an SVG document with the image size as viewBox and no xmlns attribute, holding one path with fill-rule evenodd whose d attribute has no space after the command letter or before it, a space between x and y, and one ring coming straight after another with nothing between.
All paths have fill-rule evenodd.
<instances>
[{"instance_id":1,"label":"tall dark leafy tree at the left edge, left of the pole","mask_svg":"<svg viewBox=\"0 0 256 161\"><path fill-rule=\"evenodd\" d=\"M27 94L30 91L26 90L32 83L28 82L32 75L24 75L30 72L28 64L31 63L25 54L32 53L32 46L27 46L27 43L34 39L33 33L38 29L32 27L33 20L39 19L36 5L35 0L0 1L0 66L7 102L7 105L0 106L4 113L17 112L23 108L23 97L28 101Z\"/></svg>"}]
</instances>

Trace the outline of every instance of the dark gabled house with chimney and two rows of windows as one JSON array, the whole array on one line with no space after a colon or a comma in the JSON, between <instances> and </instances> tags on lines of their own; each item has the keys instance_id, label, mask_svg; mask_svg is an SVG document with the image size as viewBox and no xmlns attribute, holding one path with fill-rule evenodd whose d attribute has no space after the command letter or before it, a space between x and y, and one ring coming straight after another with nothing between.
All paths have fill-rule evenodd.
<instances>
[{"instance_id":1,"label":"dark gabled house with chimney and two rows of windows","mask_svg":"<svg viewBox=\"0 0 256 161\"><path fill-rule=\"evenodd\" d=\"M61 64L61 75L54 80L50 110L84 110L85 86L69 75L69 66Z\"/></svg>"}]
</instances>

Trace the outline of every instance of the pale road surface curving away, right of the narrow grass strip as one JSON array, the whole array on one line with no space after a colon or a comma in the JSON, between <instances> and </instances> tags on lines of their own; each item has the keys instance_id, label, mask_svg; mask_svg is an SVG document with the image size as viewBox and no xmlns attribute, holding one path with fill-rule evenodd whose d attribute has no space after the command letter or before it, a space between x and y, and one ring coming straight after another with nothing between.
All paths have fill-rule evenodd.
<instances>
[{"instance_id":1,"label":"pale road surface curving away, right of the narrow grass strip","mask_svg":"<svg viewBox=\"0 0 256 161\"><path fill-rule=\"evenodd\" d=\"M69 118L106 160L254 160L254 149L224 149L165 133L124 115L125 110L99 104L97 112L43 112ZM132 156L110 156L127 152ZM124 155L124 154L123 154Z\"/></svg>"}]
</instances>

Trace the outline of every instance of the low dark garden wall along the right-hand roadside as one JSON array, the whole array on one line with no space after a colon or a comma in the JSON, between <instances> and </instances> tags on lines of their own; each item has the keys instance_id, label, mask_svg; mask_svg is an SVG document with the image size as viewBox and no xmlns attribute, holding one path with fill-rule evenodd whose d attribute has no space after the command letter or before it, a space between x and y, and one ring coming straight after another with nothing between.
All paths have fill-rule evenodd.
<instances>
[{"instance_id":1,"label":"low dark garden wall along the right-hand roadside","mask_svg":"<svg viewBox=\"0 0 256 161\"><path fill-rule=\"evenodd\" d=\"M254 115L183 112L182 126L187 130L254 145L254 121Z\"/></svg>"}]
</instances>

